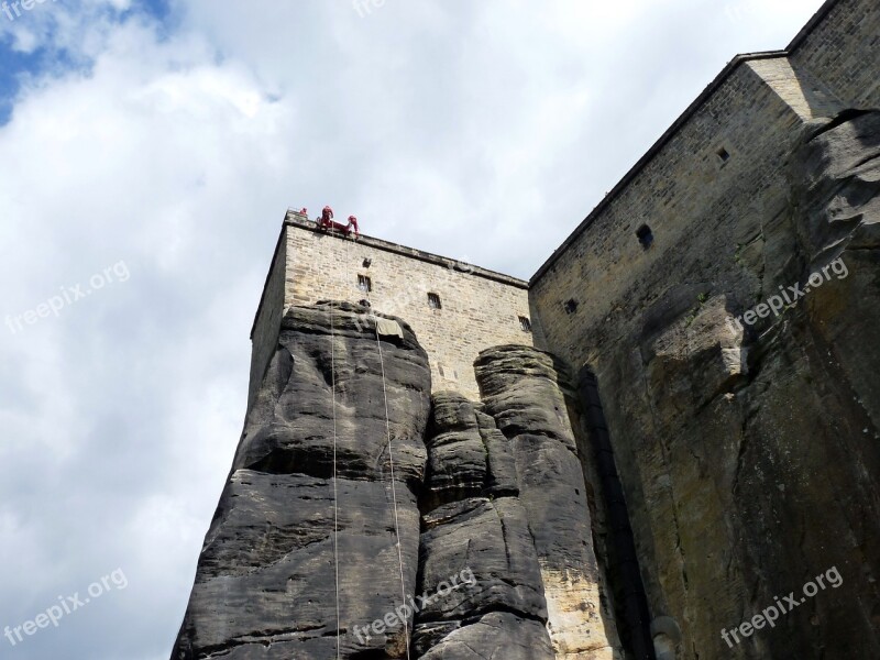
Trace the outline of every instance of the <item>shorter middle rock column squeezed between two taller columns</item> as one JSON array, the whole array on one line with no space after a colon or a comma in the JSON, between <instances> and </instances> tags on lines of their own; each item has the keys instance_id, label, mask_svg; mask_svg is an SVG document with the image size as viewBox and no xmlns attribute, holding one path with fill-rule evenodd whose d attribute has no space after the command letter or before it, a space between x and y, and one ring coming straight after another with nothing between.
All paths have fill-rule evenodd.
<instances>
[{"instance_id":1,"label":"shorter middle rock column squeezed between two taller columns","mask_svg":"<svg viewBox=\"0 0 880 660\"><path fill-rule=\"evenodd\" d=\"M509 442L457 393L433 396L414 647L422 660L553 660Z\"/></svg>"}]
</instances>

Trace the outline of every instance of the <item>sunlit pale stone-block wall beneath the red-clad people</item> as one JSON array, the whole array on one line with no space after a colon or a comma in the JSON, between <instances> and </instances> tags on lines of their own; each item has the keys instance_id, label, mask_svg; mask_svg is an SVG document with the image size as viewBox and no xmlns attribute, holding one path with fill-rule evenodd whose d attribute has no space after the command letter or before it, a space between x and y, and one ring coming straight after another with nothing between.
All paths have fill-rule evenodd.
<instances>
[{"instance_id":1,"label":"sunlit pale stone-block wall beneath the red-clad people","mask_svg":"<svg viewBox=\"0 0 880 660\"><path fill-rule=\"evenodd\" d=\"M288 211L254 322L252 394L277 339L280 309L330 299L366 299L375 311L411 323L430 356L433 391L476 398L473 363L482 350L534 344L520 320L530 324L525 282L367 235L355 241L319 231Z\"/></svg>"}]
</instances>

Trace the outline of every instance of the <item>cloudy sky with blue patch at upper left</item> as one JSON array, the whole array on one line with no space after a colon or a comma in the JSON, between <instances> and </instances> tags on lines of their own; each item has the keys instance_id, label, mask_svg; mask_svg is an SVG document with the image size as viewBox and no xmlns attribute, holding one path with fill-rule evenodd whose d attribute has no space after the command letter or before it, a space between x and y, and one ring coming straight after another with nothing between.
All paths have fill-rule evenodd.
<instances>
[{"instance_id":1,"label":"cloudy sky with blue patch at upper left","mask_svg":"<svg viewBox=\"0 0 880 660\"><path fill-rule=\"evenodd\" d=\"M288 207L528 278L821 3L0 3L0 660L168 660Z\"/></svg>"}]
</instances>

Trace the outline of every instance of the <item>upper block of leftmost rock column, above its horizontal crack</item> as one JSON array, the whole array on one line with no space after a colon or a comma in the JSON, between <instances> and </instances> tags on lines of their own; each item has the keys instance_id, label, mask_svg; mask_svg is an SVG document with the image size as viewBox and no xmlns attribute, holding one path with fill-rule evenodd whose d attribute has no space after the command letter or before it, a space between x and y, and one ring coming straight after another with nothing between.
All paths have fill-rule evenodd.
<instances>
[{"instance_id":1,"label":"upper block of leftmost rock column, above its horizontal crack","mask_svg":"<svg viewBox=\"0 0 880 660\"><path fill-rule=\"evenodd\" d=\"M383 338L383 383L373 321L355 314L364 309L353 305L343 304L332 317L330 308L292 307L285 316L278 351L249 416L233 470L331 474L334 371L339 475L387 479L387 392L395 477L420 484L429 410L426 382L430 387L425 350L406 326L402 342Z\"/></svg>"}]
</instances>

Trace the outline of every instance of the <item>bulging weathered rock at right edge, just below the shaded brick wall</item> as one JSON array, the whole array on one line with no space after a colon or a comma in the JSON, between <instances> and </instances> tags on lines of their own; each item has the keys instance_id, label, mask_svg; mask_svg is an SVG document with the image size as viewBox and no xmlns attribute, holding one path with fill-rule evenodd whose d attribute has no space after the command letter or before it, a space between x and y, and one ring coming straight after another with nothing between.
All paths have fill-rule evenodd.
<instances>
[{"instance_id":1,"label":"bulging weathered rock at right edge, just below the shaded brick wall","mask_svg":"<svg viewBox=\"0 0 880 660\"><path fill-rule=\"evenodd\" d=\"M803 262L807 274L845 266L806 298L811 327L880 428L880 111L849 111L806 134L792 175Z\"/></svg>"}]
</instances>

